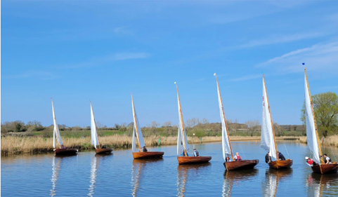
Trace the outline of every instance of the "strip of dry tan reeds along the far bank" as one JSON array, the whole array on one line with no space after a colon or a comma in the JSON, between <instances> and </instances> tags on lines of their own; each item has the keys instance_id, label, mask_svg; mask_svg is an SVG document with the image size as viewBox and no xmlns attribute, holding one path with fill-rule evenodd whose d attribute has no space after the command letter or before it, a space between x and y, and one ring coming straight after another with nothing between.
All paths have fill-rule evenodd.
<instances>
[{"instance_id":1,"label":"strip of dry tan reeds along the far bank","mask_svg":"<svg viewBox=\"0 0 338 197\"><path fill-rule=\"evenodd\" d=\"M200 137L188 136L189 144L201 143ZM306 144L306 137L275 137L277 141L297 141ZM328 146L338 146L338 135L327 137L323 140L322 144ZM131 149L132 137L127 135L109 135L100 137L100 144L105 144L107 147L113 149ZM159 140L160 146L176 145L177 137L160 137L160 136L148 136L144 137L145 145L147 147L158 147ZM260 136L230 136L231 142L246 142L246 141L261 141ZM221 136L207 136L202 137L202 143L209 142L221 142ZM53 138L49 137L1 137L1 156L7 156L11 154L45 154L53 152ZM64 137L63 144L65 147L79 149L79 151L91 151L94 150L91 144L91 137ZM58 147L58 146L57 146Z\"/></svg>"}]
</instances>

